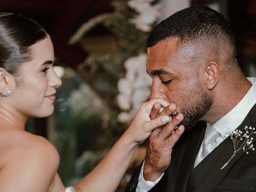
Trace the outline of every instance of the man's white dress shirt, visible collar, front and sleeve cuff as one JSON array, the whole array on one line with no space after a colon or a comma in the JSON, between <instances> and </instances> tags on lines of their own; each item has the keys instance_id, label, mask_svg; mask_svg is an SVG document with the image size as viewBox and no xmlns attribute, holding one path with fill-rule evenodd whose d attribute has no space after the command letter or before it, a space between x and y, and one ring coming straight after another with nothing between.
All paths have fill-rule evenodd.
<instances>
[{"instance_id":1,"label":"man's white dress shirt, visible collar, front and sleeve cuff","mask_svg":"<svg viewBox=\"0 0 256 192\"><path fill-rule=\"evenodd\" d=\"M252 84L250 90L246 93L246 95L242 98L242 100L228 112L225 116L223 116L216 123L212 124L214 129L218 131L221 135L216 139L217 146L226 139L230 132L235 130L244 120L248 112L251 108L256 104L256 78L247 78L248 81ZM204 141L203 141L204 142ZM202 143L203 143L202 142ZM203 145L201 144L200 150L197 156L200 156L203 150ZM144 163L143 163L144 165ZM164 174L162 174L163 176ZM151 188L153 188L158 181L162 178L158 178L155 182L145 181L143 178L143 166L140 170L140 176L138 178L138 186L136 188L136 192L147 192Z\"/></svg>"}]
</instances>

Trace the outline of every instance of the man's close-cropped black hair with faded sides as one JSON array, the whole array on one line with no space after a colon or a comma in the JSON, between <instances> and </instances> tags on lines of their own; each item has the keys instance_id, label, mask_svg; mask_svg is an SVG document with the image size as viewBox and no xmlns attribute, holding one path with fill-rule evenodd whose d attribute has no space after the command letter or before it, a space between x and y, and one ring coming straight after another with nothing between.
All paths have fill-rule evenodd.
<instances>
[{"instance_id":1,"label":"man's close-cropped black hair with faded sides","mask_svg":"<svg viewBox=\"0 0 256 192\"><path fill-rule=\"evenodd\" d=\"M234 33L227 20L204 5L186 8L160 22L150 33L147 47L169 37L178 38L179 44L213 38L226 39L236 52Z\"/></svg>"}]
</instances>

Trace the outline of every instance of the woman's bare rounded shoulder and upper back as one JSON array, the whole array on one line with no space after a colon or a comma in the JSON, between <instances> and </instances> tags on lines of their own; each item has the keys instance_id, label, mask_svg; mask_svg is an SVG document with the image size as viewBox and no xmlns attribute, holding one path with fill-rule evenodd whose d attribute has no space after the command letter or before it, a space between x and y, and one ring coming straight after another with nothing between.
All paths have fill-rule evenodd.
<instances>
[{"instance_id":1,"label":"woman's bare rounded shoulder and upper back","mask_svg":"<svg viewBox=\"0 0 256 192\"><path fill-rule=\"evenodd\" d=\"M2 130L0 180L4 185L0 191L18 188L32 191L36 185L47 191L58 165L58 152L45 138L21 130ZM12 190L8 189L10 186Z\"/></svg>"}]
</instances>

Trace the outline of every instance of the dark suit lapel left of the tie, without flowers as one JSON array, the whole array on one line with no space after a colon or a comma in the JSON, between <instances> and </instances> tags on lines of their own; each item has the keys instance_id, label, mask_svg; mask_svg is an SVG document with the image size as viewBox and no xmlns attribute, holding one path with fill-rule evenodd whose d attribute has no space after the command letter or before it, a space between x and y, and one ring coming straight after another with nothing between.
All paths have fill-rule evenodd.
<instances>
[{"instance_id":1,"label":"dark suit lapel left of the tie, without flowers","mask_svg":"<svg viewBox=\"0 0 256 192\"><path fill-rule=\"evenodd\" d=\"M175 192L186 192L190 170L194 165L194 159L204 138L205 128L205 122L198 122L197 126L191 130L188 136L188 144L182 157L180 170L178 171Z\"/></svg>"}]
</instances>

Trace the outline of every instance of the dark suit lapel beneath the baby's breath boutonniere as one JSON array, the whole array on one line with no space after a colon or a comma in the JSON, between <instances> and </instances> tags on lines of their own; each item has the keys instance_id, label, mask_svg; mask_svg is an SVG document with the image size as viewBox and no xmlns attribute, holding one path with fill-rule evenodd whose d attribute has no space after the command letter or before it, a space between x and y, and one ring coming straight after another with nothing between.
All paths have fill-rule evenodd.
<instances>
[{"instance_id":1,"label":"dark suit lapel beneath the baby's breath boutonniere","mask_svg":"<svg viewBox=\"0 0 256 192\"><path fill-rule=\"evenodd\" d=\"M249 112L248 116L246 116L242 124L238 126L238 130L243 131L245 126L255 126L255 106ZM252 134L252 137L254 138L253 141L255 142L256 134ZM228 165L221 170L220 168L229 160L233 153L233 142L229 136L201 162L202 164L200 163L201 165L198 164L198 166L204 166L204 168L206 168L206 174L204 175L202 182L200 182L200 185L196 187L194 192L213 192L223 180L223 178L226 176L232 165L241 156L245 155L244 152L237 153L234 158L232 158L232 160L228 163Z\"/></svg>"}]
</instances>

